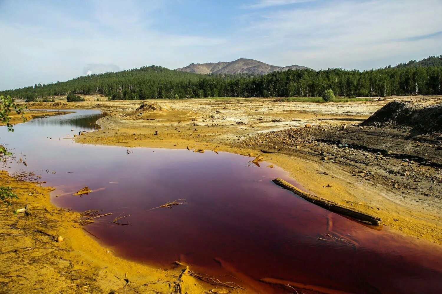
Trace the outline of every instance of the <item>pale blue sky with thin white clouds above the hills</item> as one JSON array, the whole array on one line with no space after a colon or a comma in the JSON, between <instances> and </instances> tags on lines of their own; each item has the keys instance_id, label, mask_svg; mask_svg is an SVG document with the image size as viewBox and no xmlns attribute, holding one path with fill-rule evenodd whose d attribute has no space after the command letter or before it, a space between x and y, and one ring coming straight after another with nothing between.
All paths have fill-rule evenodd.
<instances>
[{"instance_id":1,"label":"pale blue sky with thin white clouds above the hills","mask_svg":"<svg viewBox=\"0 0 442 294\"><path fill-rule=\"evenodd\" d=\"M0 90L251 58L366 70L442 55L442 0L0 0Z\"/></svg>"}]
</instances>

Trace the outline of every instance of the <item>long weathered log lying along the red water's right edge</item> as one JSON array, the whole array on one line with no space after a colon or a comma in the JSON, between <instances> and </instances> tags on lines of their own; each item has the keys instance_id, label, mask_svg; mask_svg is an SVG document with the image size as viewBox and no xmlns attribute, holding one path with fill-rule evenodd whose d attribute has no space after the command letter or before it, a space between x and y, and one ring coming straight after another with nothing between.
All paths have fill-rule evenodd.
<instances>
[{"instance_id":1,"label":"long weathered log lying along the red water's right edge","mask_svg":"<svg viewBox=\"0 0 442 294\"><path fill-rule=\"evenodd\" d=\"M338 203L317 197L315 195L309 194L307 192L304 192L297 187L291 185L290 183L284 181L283 179L276 178L272 182L274 182L276 185L281 186L284 189L292 191L294 194L297 194L304 198L305 200L312 202L313 204L319 205L322 208L328 209L332 212L337 212L339 214L342 214L344 216L349 216L355 220L358 220L362 223L371 224L374 226L379 226L382 222L382 220L379 217L371 216L365 212L360 212L354 208L346 207L343 205L340 205Z\"/></svg>"}]
</instances>

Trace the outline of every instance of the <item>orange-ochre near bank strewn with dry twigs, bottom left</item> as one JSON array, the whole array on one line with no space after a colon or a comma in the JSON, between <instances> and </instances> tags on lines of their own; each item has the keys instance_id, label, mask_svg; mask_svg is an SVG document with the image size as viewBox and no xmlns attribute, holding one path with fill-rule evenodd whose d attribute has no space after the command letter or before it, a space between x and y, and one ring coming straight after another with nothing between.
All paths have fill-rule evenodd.
<instances>
[{"instance_id":1,"label":"orange-ochre near bank strewn with dry twigs, bottom left","mask_svg":"<svg viewBox=\"0 0 442 294\"><path fill-rule=\"evenodd\" d=\"M213 286L169 269L115 257L81 226L80 213L57 208L50 188L0 171L19 197L0 205L0 293L204 293ZM30 205L32 216L13 211ZM63 242L54 241L62 236ZM125 280L126 279L126 280ZM114 291L114 292L113 292Z\"/></svg>"}]
</instances>

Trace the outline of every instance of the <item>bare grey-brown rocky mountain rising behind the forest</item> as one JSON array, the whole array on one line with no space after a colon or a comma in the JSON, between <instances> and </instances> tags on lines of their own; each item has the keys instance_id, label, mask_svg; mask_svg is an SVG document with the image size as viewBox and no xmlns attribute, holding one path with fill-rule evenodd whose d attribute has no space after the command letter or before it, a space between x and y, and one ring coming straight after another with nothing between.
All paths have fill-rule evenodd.
<instances>
[{"instance_id":1,"label":"bare grey-brown rocky mountain rising behind the forest","mask_svg":"<svg viewBox=\"0 0 442 294\"><path fill-rule=\"evenodd\" d=\"M299 65L277 67L258 60L240 58L230 62L191 63L187 67L177 68L177 71L192 72L195 74L268 74L273 71L287 71L307 69Z\"/></svg>"}]
</instances>

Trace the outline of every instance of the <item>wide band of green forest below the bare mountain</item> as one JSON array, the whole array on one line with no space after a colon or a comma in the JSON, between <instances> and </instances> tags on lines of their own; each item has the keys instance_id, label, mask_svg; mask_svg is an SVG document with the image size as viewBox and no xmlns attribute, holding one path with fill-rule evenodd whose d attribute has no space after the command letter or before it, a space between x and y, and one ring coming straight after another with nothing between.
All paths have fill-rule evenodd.
<instances>
[{"instance_id":1,"label":"wide band of green forest below the bare mountain","mask_svg":"<svg viewBox=\"0 0 442 294\"><path fill-rule=\"evenodd\" d=\"M109 100L195 97L317 97L326 89L344 97L440 95L442 56L369 71L332 68L275 71L266 75L193 74L158 66L91 74L47 85L6 90L28 102L43 97L99 93ZM434 61L435 60L435 61Z\"/></svg>"}]
</instances>

